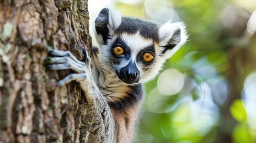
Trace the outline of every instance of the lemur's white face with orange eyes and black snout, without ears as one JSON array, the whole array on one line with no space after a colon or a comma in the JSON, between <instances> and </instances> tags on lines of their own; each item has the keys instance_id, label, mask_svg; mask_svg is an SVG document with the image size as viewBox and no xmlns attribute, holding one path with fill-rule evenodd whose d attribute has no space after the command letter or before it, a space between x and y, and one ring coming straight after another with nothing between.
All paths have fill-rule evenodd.
<instances>
[{"instance_id":1,"label":"lemur's white face with orange eyes and black snout, without ears","mask_svg":"<svg viewBox=\"0 0 256 143\"><path fill-rule=\"evenodd\" d=\"M109 60L119 79L125 83L145 79L145 73L155 61L155 43L152 39L135 34L121 33L113 36Z\"/></svg>"}]
</instances>

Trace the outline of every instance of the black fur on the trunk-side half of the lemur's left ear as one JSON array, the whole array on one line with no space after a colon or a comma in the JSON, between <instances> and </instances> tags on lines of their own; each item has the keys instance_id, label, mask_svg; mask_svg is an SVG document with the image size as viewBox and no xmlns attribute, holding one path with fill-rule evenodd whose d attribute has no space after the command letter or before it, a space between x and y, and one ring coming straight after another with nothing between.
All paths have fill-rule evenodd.
<instances>
[{"instance_id":1,"label":"black fur on the trunk-side half of the lemur's left ear","mask_svg":"<svg viewBox=\"0 0 256 143\"><path fill-rule=\"evenodd\" d=\"M97 34L101 35L104 41L104 44L107 43L107 38L109 36L109 9L103 8L98 14L98 17L95 19L95 30Z\"/></svg>"}]
</instances>

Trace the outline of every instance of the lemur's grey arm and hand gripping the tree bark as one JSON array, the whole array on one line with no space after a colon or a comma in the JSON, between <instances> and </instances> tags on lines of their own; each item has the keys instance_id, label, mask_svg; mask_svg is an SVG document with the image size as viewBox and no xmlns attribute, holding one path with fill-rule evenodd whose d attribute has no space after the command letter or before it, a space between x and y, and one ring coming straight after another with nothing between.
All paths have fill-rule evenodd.
<instances>
[{"instance_id":1,"label":"lemur's grey arm and hand gripping the tree bark","mask_svg":"<svg viewBox=\"0 0 256 143\"><path fill-rule=\"evenodd\" d=\"M85 63L79 61L69 51L51 50L47 60L47 66L51 70L71 69L77 73L71 73L57 85L65 85L72 80L80 83L88 101L88 114L94 116L88 142L115 142L115 120L110 107L91 76L90 57L85 54Z\"/></svg>"}]
</instances>

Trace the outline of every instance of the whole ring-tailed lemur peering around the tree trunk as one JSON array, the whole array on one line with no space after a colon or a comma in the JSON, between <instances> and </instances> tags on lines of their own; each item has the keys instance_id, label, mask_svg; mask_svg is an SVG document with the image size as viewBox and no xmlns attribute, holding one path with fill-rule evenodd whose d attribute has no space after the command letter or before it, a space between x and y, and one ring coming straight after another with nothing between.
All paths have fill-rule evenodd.
<instances>
[{"instance_id":1,"label":"whole ring-tailed lemur peering around the tree trunk","mask_svg":"<svg viewBox=\"0 0 256 143\"><path fill-rule=\"evenodd\" d=\"M183 23L162 26L122 17L104 8L95 20L99 48L79 61L69 51L49 51L48 67L71 69L58 86L80 83L94 114L89 142L131 142L143 98L142 83L158 74L165 60L187 40ZM92 69L91 69L91 64Z\"/></svg>"}]
</instances>

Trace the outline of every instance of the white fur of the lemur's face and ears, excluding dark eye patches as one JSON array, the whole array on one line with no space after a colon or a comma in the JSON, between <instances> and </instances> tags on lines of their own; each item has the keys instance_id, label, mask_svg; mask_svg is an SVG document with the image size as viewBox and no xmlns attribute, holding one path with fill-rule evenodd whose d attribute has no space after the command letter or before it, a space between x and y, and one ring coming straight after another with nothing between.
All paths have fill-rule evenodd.
<instances>
[{"instance_id":1,"label":"white fur of the lemur's face and ears, excluding dark eye patches","mask_svg":"<svg viewBox=\"0 0 256 143\"><path fill-rule=\"evenodd\" d=\"M187 33L186 29L183 23L171 23L171 21L168 21L164 25L162 25L159 28L159 44L153 43L153 39L146 39L143 38L143 36L140 35L140 32L138 31L135 34L128 34L128 33L121 33L121 35L115 35L115 30L120 26L121 24L121 18L122 16L119 13L115 13L115 11L109 9L109 36L110 38L107 39L107 44L103 45L103 43L98 43L100 45L98 55L100 65L102 69L106 71L110 71L111 74L115 75L118 82L120 83L118 77L115 74L115 70L119 71L122 67L127 66L127 64L132 61L136 63L137 69L140 71L140 82L146 82L150 79L153 79L155 77L159 70L161 70L162 65L164 64L165 60L172 57L172 55L178 51L178 49L186 43L187 41ZM173 49L167 50L164 54L162 54L162 51L164 48L162 46L168 45L169 41L173 38L174 33L180 29L180 42L177 40L174 40L174 44L177 44ZM115 42L115 39L117 37L121 37L125 44L131 48L131 58L129 60L122 60L120 64L116 65L113 64L110 60L111 58L111 46L113 42ZM98 38L100 37L100 38ZM100 41L103 41L101 36L96 36L97 39ZM178 39L178 38L177 38ZM147 46L150 46L154 44L155 45L155 61L152 65L149 67L146 67L148 70L146 70L144 65L141 62L137 62L137 55L138 52L141 51L141 49L147 48ZM113 76L109 80L113 80ZM116 85L116 84L115 84Z\"/></svg>"}]
</instances>

